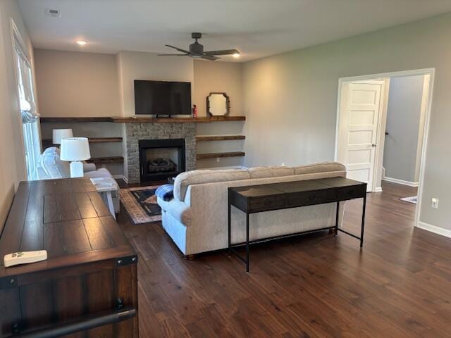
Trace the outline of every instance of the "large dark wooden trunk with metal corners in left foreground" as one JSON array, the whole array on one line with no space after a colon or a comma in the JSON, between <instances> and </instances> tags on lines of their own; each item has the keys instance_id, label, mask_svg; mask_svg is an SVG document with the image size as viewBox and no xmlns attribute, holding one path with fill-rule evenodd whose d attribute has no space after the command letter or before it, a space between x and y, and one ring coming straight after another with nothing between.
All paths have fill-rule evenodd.
<instances>
[{"instance_id":1,"label":"large dark wooden trunk with metal corners in left foreground","mask_svg":"<svg viewBox=\"0 0 451 338\"><path fill-rule=\"evenodd\" d=\"M42 249L47 261L4 267ZM20 182L0 237L0 337L137 338L137 306L137 254L90 180Z\"/></svg>"}]
</instances>

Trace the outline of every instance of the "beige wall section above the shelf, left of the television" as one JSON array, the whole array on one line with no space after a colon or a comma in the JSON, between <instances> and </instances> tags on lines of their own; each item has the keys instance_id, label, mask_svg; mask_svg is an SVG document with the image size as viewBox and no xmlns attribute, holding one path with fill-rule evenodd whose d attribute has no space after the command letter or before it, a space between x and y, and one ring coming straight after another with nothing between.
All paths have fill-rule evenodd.
<instances>
[{"instance_id":1,"label":"beige wall section above the shelf, left of the television","mask_svg":"<svg viewBox=\"0 0 451 338\"><path fill-rule=\"evenodd\" d=\"M118 74L111 54L35 49L42 116L118 116Z\"/></svg>"}]
</instances>

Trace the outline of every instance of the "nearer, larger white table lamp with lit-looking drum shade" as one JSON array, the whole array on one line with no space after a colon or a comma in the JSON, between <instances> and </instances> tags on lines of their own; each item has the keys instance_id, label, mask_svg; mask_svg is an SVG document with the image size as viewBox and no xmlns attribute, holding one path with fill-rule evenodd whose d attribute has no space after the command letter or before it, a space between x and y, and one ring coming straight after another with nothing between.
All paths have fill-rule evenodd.
<instances>
[{"instance_id":1,"label":"nearer, larger white table lamp with lit-looking drum shade","mask_svg":"<svg viewBox=\"0 0 451 338\"><path fill-rule=\"evenodd\" d=\"M87 137L61 139L61 161L70 161L70 177L83 177L83 163L91 158Z\"/></svg>"}]
</instances>

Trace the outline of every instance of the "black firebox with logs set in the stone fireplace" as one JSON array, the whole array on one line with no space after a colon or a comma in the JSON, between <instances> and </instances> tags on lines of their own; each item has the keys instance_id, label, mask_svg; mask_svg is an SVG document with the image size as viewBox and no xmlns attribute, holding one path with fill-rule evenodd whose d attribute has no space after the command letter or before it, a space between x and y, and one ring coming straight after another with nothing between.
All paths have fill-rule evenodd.
<instances>
[{"instance_id":1,"label":"black firebox with logs set in the stone fireplace","mask_svg":"<svg viewBox=\"0 0 451 338\"><path fill-rule=\"evenodd\" d=\"M142 139L141 182L166 180L185 171L185 139Z\"/></svg>"}]
</instances>

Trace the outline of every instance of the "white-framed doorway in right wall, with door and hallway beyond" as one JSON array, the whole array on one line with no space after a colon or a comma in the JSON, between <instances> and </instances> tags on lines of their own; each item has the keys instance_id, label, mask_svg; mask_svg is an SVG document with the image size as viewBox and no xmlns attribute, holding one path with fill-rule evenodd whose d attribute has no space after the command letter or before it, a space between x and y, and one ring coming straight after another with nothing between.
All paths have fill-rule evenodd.
<instances>
[{"instance_id":1,"label":"white-framed doorway in right wall, with door and hallway beyond","mask_svg":"<svg viewBox=\"0 0 451 338\"><path fill-rule=\"evenodd\" d=\"M421 203L434 72L340 78L335 161L346 165L348 178L367 182L368 192L382 192L383 180L406 184L418 187Z\"/></svg>"}]
</instances>

